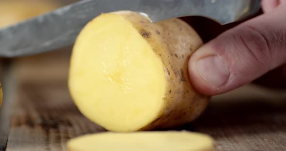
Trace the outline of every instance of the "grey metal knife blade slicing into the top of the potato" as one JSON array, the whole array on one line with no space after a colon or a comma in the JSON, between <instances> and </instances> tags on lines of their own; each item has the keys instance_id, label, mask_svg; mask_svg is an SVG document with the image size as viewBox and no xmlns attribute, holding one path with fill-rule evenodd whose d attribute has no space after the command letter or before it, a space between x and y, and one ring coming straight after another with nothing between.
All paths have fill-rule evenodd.
<instances>
[{"instance_id":1,"label":"grey metal knife blade slicing into the top of the potato","mask_svg":"<svg viewBox=\"0 0 286 151\"><path fill-rule=\"evenodd\" d=\"M1 29L0 56L28 56L73 45L80 30L101 13L136 11L152 22L199 15L227 24L259 8L260 0L82 0Z\"/></svg>"}]
</instances>

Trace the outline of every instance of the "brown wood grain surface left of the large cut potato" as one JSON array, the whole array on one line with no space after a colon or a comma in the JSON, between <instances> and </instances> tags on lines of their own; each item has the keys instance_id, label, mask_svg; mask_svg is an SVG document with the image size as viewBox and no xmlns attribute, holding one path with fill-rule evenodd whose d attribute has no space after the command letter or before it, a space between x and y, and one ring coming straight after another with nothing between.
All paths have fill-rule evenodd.
<instances>
[{"instance_id":1,"label":"brown wood grain surface left of the large cut potato","mask_svg":"<svg viewBox=\"0 0 286 151\"><path fill-rule=\"evenodd\" d=\"M6 151L65 151L75 136L105 131L80 114L67 90L69 55L15 60L16 98Z\"/></svg>"}]
</instances>

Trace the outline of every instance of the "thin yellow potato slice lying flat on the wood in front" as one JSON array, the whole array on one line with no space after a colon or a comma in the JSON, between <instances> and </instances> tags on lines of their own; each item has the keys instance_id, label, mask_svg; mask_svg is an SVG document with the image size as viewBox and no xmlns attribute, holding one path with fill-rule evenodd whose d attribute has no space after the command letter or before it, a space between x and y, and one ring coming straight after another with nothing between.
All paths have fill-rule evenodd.
<instances>
[{"instance_id":1,"label":"thin yellow potato slice lying flat on the wood in front","mask_svg":"<svg viewBox=\"0 0 286 151\"><path fill-rule=\"evenodd\" d=\"M193 132L104 132L68 141L68 151L212 151L211 137Z\"/></svg>"}]
</instances>

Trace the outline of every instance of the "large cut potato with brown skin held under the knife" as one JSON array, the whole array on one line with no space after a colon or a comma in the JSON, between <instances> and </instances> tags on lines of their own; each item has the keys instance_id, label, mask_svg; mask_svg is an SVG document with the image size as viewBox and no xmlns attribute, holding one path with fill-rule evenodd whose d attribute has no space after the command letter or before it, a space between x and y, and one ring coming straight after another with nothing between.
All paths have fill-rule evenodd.
<instances>
[{"instance_id":1,"label":"large cut potato with brown skin held under the knife","mask_svg":"<svg viewBox=\"0 0 286 151\"><path fill-rule=\"evenodd\" d=\"M193 121L209 97L191 86L187 62L202 45L180 19L151 23L135 12L97 16L79 33L68 87L79 110L114 132L173 128Z\"/></svg>"}]
</instances>

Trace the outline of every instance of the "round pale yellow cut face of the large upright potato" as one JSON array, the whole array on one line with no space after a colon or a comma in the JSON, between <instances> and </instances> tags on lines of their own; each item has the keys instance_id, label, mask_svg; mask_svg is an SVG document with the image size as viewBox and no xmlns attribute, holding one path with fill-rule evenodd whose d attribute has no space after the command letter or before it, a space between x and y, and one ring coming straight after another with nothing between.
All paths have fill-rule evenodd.
<instances>
[{"instance_id":1,"label":"round pale yellow cut face of the large upright potato","mask_svg":"<svg viewBox=\"0 0 286 151\"><path fill-rule=\"evenodd\" d=\"M166 91L163 64L132 24L121 15L101 15L79 39L69 76L79 110L111 131L135 131L155 120Z\"/></svg>"}]
</instances>

